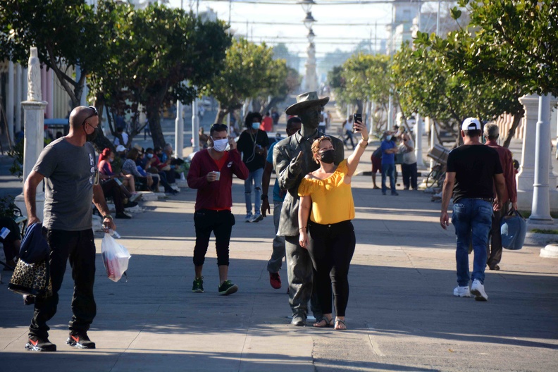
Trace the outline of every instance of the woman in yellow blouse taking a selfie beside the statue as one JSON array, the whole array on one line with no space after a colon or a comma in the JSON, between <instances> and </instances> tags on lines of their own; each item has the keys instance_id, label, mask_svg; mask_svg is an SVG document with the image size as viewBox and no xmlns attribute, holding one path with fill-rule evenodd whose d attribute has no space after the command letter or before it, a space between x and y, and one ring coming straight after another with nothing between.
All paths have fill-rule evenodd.
<instances>
[{"instance_id":1,"label":"woman in yellow blouse taking a selfie beside the statue","mask_svg":"<svg viewBox=\"0 0 558 372\"><path fill-rule=\"evenodd\" d=\"M345 309L349 299L349 264L354 253L356 238L351 220L354 203L351 178L361 155L368 146L366 125L355 122L355 132L362 140L354 152L338 166L333 163L335 150L330 137L322 136L312 144L317 171L306 175L299 185L300 246L308 249L316 275L316 291L323 320L314 327L333 325L331 294L335 304L335 329L345 330ZM311 239L309 239L309 237Z\"/></svg>"}]
</instances>

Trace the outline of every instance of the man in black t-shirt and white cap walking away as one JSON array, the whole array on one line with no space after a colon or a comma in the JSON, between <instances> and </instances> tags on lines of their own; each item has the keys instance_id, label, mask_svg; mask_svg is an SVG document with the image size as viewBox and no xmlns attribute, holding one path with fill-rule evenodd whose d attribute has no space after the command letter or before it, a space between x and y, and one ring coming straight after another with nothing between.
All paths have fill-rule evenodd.
<instances>
[{"instance_id":1,"label":"man in black t-shirt and white cap walking away","mask_svg":"<svg viewBox=\"0 0 558 372\"><path fill-rule=\"evenodd\" d=\"M452 223L457 235L457 287L454 296L471 297L487 301L484 290L486 244L492 226L492 209L500 210L494 204L493 187L496 186L498 200L504 200L504 175L500 158L495 149L483 146L481 123L476 118L466 118L461 125L464 144L453 149L447 158L447 173L442 191L442 213L440 225L445 230L450 225L447 206L454 197ZM475 259L473 275L469 275L469 244L473 245ZM469 290L469 280L473 280Z\"/></svg>"}]
</instances>

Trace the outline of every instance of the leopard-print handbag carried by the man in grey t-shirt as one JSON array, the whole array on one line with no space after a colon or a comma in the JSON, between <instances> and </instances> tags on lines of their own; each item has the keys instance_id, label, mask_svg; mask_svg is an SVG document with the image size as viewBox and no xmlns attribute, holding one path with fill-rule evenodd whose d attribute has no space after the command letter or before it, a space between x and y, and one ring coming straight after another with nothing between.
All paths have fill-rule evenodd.
<instances>
[{"instance_id":1,"label":"leopard-print handbag carried by the man in grey t-shirt","mask_svg":"<svg viewBox=\"0 0 558 372\"><path fill-rule=\"evenodd\" d=\"M47 261L27 263L20 259L13 270L8 290L35 297L51 296L52 282Z\"/></svg>"}]
</instances>

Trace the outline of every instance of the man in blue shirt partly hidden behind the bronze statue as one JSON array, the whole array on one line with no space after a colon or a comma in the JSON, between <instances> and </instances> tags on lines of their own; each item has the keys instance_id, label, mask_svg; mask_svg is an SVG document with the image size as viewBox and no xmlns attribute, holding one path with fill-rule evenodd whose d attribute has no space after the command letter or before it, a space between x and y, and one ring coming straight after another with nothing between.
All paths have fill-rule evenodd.
<instances>
[{"instance_id":1,"label":"man in blue shirt partly hidden behind the bronze statue","mask_svg":"<svg viewBox=\"0 0 558 372\"><path fill-rule=\"evenodd\" d=\"M290 118L287 121L287 135L291 136L300 130L302 121L297 118ZM273 171L273 147L278 142L273 142L269 147L268 156L266 160L266 167L263 168L263 177L261 178L261 215L266 217L266 213L270 212L268 201L269 181L271 179L271 172ZM269 283L271 287L278 290L281 287L281 277L279 271L283 265L283 258L285 258L285 237L277 235L279 229L279 220L281 216L281 209L283 208L283 200L285 200L285 190L280 190L279 181L275 178L275 185L273 186L273 225L275 226L275 237L273 237L273 253L271 259L267 264L269 272Z\"/></svg>"}]
</instances>

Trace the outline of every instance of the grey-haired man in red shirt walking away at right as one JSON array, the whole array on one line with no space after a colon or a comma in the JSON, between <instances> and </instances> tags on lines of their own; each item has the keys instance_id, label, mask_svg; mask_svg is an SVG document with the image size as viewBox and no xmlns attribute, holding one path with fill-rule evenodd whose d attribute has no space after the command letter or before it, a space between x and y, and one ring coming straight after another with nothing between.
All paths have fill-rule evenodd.
<instances>
[{"instance_id":1,"label":"grey-haired man in red shirt walking away at right","mask_svg":"<svg viewBox=\"0 0 558 372\"><path fill-rule=\"evenodd\" d=\"M509 211L509 203L512 203L512 208L517 209L517 187L515 180L515 168L512 151L500 146L497 143L500 137L500 129L496 124L487 124L484 128L484 135L486 137L486 145L492 147L498 152L500 163L502 164L502 171L504 171L504 179L506 180L507 197L500 202L502 209L494 211L492 216L492 229L490 230L490 245L487 247L488 260L487 265L490 270L500 270L498 263L502 260L502 235L500 233L500 221L502 217L506 216Z\"/></svg>"}]
</instances>

